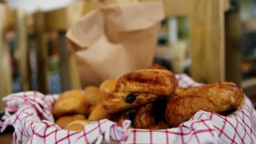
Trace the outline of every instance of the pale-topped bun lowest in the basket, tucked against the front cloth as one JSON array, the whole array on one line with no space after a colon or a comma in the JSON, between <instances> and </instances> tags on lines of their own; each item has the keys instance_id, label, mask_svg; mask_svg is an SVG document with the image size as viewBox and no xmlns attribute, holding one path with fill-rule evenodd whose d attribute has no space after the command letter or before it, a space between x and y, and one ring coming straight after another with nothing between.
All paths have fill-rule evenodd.
<instances>
[{"instance_id":1,"label":"pale-topped bun lowest in the basket, tucked against the front cloth","mask_svg":"<svg viewBox=\"0 0 256 144\"><path fill-rule=\"evenodd\" d=\"M82 119L82 120L75 120L69 124L66 125L64 129L66 130L75 130L75 131L81 131L84 129L84 126L88 124L90 121L88 119Z\"/></svg>"}]
</instances>

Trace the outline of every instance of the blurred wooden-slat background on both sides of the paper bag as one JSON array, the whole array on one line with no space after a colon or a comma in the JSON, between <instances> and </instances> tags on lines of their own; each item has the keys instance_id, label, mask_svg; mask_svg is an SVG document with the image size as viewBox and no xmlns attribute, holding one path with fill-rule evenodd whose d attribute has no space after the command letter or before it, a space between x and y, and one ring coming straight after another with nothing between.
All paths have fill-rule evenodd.
<instances>
[{"instance_id":1,"label":"blurred wooden-slat background on both sides of the paper bag","mask_svg":"<svg viewBox=\"0 0 256 144\"><path fill-rule=\"evenodd\" d=\"M67 29L100 5L142 1L0 0L0 97L83 89ZM198 82L235 82L256 105L256 0L162 2L153 63Z\"/></svg>"}]
</instances>

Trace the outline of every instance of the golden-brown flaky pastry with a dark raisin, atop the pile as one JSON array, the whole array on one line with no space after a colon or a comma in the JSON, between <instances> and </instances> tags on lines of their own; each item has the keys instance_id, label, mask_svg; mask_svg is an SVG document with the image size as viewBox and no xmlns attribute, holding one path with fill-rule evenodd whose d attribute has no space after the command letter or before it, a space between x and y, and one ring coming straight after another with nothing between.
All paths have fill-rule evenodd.
<instances>
[{"instance_id":1,"label":"golden-brown flaky pastry with a dark raisin, atop the pile","mask_svg":"<svg viewBox=\"0 0 256 144\"><path fill-rule=\"evenodd\" d=\"M121 76L115 92L104 95L103 108L108 113L116 113L141 106L173 94L177 85L171 71L152 65Z\"/></svg>"}]
</instances>

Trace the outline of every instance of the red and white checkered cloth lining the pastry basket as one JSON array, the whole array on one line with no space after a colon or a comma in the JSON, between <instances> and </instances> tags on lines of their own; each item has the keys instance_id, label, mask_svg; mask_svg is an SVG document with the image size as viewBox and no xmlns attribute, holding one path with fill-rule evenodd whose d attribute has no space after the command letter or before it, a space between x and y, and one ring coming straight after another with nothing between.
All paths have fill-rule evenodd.
<instances>
[{"instance_id":1,"label":"red and white checkered cloth lining the pastry basket","mask_svg":"<svg viewBox=\"0 0 256 144\"><path fill-rule=\"evenodd\" d=\"M176 75L179 86L184 88L200 86L185 74ZM9 125L15 128L13 143L101 143L110 137L120 143L254 143L256 112L246 97L240 110L229 116L213 112L198 111L189 121L178 128L163 130L127 129L130 121L117 123L102 119L91 122L83 131L63 130L54 123L51 108L57 95L43 95L38 92L10 94L3 100L5 121L1 131ZM10 115L9 112L14 112ZM44 120L42 120L44 119Z\"/></svg>"}]
</instances>

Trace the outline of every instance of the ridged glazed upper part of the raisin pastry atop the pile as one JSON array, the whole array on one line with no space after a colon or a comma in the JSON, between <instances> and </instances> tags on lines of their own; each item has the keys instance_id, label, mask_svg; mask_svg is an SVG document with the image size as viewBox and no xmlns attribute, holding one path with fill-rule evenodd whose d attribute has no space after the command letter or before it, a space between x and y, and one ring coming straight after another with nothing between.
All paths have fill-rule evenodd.
<instances>
[{"instance_id":1,"label":"ridged glazed upper part of the raisin pastry atop the pile","mask_svg":"<svg viewBox=\"0 0 256 144\"><path fill-rule=\"evenodd\" d=\"M171 71L160 65L152 65L148 69L136 70L120 77L115 92L152 93L171 95L175 92L178 81Z\"/></svg>"}]
</instances>

